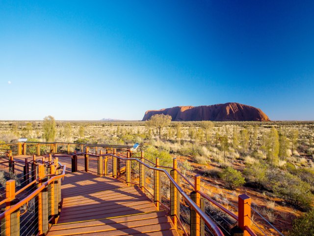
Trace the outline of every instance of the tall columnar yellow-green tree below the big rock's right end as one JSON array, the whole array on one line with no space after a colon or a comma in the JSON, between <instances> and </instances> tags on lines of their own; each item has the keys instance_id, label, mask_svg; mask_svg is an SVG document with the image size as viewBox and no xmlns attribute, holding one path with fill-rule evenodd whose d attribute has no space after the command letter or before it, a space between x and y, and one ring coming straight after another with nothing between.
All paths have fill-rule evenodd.
<instances>
[{"instance_id":1,"label":"tall columnar yellow-green tree below the big rock's right end","mask_svg":"<svg viewBox=\"0 0 314 236\"><path fill-rule=\"evenodd\" d=\"M267 160L271 162L273 168L274 163L278 163L279 155L279 136L275 127L271 127L267 138Z\"/></svg>"}]
</instances>

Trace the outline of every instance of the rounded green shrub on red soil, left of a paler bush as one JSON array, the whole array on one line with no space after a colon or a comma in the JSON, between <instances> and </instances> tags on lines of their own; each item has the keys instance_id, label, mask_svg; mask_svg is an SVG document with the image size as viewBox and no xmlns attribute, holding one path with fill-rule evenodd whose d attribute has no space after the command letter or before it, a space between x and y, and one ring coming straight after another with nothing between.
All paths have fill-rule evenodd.
<instances>
[{"instance_id":1,"label":"rounded green shrub on red soil, left of a paler bush","mask_svg":"<svg viewBox=\"0 0 314 236\"><path fill-rule=\"evenodd\" d=\"M220 174L219 177L225 181L226 187L230 189L235 189L236 187L242 186L245 183L245 179L241 172L233 169L232 167L227 167Z\"/></svg>"}]
</instances>

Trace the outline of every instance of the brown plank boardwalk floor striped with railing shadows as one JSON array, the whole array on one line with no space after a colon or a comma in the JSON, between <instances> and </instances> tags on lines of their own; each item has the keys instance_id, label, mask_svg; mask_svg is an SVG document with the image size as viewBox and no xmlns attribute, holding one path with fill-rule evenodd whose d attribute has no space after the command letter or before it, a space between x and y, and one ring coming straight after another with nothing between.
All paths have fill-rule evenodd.
<instances>
[{"instance_id":1,"label":"brown plank boardwalk floor striped with railing shadows","mask_svg":"<svg viewBox=\"0 0 314 236\"><path fill-rule=\"evenodd\" d=\"M177 236L170 217L137 187L113 177L68 172L62 209L48 236Z\"/></svg>"}]
</instances>

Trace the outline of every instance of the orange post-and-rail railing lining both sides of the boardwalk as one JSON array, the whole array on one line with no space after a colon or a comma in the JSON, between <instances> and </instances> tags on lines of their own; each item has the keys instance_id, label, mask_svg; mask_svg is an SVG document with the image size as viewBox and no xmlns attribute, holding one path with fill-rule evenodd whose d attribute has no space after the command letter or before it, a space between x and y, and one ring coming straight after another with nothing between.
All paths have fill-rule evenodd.
<instances>
[{"instance_id":1,"label":"orange post-and-rail railing lining both sides of the boardwalk","mask_svg":"<svg viewBox=\"0 0 314 236\"><path fill-rule=\"evenodd\" d=\"M58 146L66 148L58 149ZM71 152L71 147L78 146L79 148L76 148L74 150L72 149L73 152ZM224 227L217 220L210 217L208 208L208 206L210 205L217 207L219 211L222 211L231 218L233 218L235 222L237 222L237 228L240 232L243 233L243 235L256 236L256 234L251 229L251 199L247 195L242 194L238 196L238 214L236 215L234 212L217 203L206 193L201 191L200 176L196 175L194 177L194 180L190 180L185 177L178 170L176 158L174 158L173 160L172 167L166 167L159 165L158 157L156 158L156 162L145 159L143 151L141 152L141 155L139 157L132 157L132 152L130 151L131 146L94 146L88 144L28 142L23 144L18 143L16 144L16 147L18 150L17 154L30 153L30 150L28 152L27 148L32 148L31 151L33 153L34 147L36 148L37 154L42 154L42 147L49 147L51 153L47 152L47 154L44 155L49 158L49 161L47 163L50 163L51 174L48 176L46 175L46 177L50 178L43 182L43 179L45 178L45 176L42 174L43 168L44 165L47 164L43 159L38 167L38 173L41 174L38 174L38 177L36 179L32 179L31 181L29 180L30 182L24 187L22 191L19 190L20 192L15 192L14 190L14 197L11 193L11 195L8 194L5 202L2 201L0 204L12 202L17 194L23 192L25 189L29 188L29 186L38 183L36 190L31 192L26 198L19 201L18 203L14 203L14 205L12 205L12 203L10 207L6 208L6 210L0 214L0 220L5 219L5 222L7 222L10 214L17 211L25 204L27 205L31 201L35 201L33 204L35 206L33 207L33 211L35 212L37 208L40 208L39 205L42 206L42 202L38 200L38 196L42 194L43 190L52 182L54 182L55 179L60 179L61 177L64 177L65 166L62 166L60 163L59 168L63 168L63 172L59 175L52 173L52 169L54 169L53 171L55 171L56 168L54 165L51 165L52 158L54 158L54 160L57 160L58 157L71 158L71 170L72 172L76 172L78 171L78 156L83 156L84 171L94 172L99 176L110 175L114 178L118 178L126 182L128 186L131 186L131 184L138 185L139 188L144 193L146 193L149 198L151 198L158 210L164 209L168 211L169 215L172 218L174 226L178 230L182 230L184 235L230 235L229 230L224 229ZM116 148L118 148L118 151ZM66 150L60 151L62 149ZM8 157L9 165L11 163L11 168L12 165L14 168L14 164L17 163L17 160L13 160L12 150L8 150ZM34 159L36 158L34 157ZM110 170L108 169L109 161L111 164L111 173L109 173ZM134 164L131 165L131 162ZM49 164L45 166L46 168L48 168ZM133 169L131 168L131 166L133 166ZM138 168L138 171L135 171L134 168ZM133 173L133 176L131 176L131 173ZM161 188L161 184L164 189ZM184 187L182 187L183 185ZM9 192L12 192L12 186L10 186L7 187L9 189ZM161 189L163 191L163 194L160 194ZM169 193L166 193L167 189L169 190ZM56 213L55 209L56 208L54 208L54 211L52 210L52 208L50 208L50 211L47 210L47 219L49 218L50 222L53 222L53 215ZM218 211L216 211L215 209L213 212L217 212L218 214ZM39 217L39 214L37 218L33 217L32 220L38 221L38 227L35 227L38 231L38 235L44 234L46 230L48 231L48 227L45 226L45 228L42 228L43 226L42 224L40 224L40 222L43 222L43 219ZM6 232L7 230L9 230L8 225L10 225L10 222L8 224L5 223ZM230 225L235 226L232 224Z\"/></svg>"}]
</instances>

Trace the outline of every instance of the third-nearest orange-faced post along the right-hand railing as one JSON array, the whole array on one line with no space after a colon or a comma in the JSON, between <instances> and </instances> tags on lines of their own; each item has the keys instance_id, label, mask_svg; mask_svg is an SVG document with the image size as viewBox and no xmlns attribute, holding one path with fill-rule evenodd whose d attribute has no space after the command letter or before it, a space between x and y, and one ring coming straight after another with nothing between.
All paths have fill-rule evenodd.
<instances>
[{"instance_id":1,"label":"third-nearest orange-faced post along the right-hand railing","mask_svg":"<svg viewBox=\"0 0 314 236\"><path fill-rule=\"evenodd\" d=\"M173 169L170 171L171 177L176 181L177 179L177 159L173 158ZM170 181L170 215L172 216L172 222L176 229L178 229L177 219L177 207L178 207L178 189L175 187L173 182Z\"/></svg>"}]
</instances>

